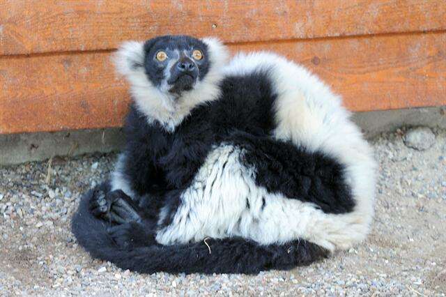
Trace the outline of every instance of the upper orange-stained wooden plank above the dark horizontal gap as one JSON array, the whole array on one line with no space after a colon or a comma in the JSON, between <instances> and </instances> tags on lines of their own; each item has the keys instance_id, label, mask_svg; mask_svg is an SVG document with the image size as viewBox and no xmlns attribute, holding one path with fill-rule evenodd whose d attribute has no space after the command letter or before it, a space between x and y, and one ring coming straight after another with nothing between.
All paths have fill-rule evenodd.
<instances>
[{"instance_id":1,"label":"upper orange-stained wooden plank above the dark horizontal gap","mask_svg":"<svg viewBox=\"0 0 446 297\"><path fill-rule=\"evenodd\" d=\"M445 0L0 0L0 55L114 49L161 34L228 43L446 29Z\"/></svg>"}]
</instances>

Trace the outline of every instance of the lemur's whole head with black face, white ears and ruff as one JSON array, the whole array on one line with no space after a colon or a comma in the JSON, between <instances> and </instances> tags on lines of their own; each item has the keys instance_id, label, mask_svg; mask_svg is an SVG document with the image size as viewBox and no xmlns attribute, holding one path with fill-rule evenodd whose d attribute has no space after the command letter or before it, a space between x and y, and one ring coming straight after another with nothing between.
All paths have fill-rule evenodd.
<instances>
[{"instance_id":1,"label":"lemur's whole head with black face, white ears and ruff","mask_svg":"<svg viewBox=\"0 0 446 297\"><path fill-rule=\"evenodd\" d=\"M174 130L193 107L217 98L227 57L215 38L160 36L124 43L115 63L139 110Z\"/></svg>"}]
</instances>

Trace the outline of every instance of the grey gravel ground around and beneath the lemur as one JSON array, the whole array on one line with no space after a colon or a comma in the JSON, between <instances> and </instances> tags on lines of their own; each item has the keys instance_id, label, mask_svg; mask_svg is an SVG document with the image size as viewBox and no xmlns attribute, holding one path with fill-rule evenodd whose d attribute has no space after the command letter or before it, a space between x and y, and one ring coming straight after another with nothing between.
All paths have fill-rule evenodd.
<instances>
[{"instance_id":1,"label":"grey gravel ground around and beneath the lemur","mask_svg":"<svg viewBox=\"0 0 446 297\"><path fill-rule=\"evenodd\" d=\"M372 140L380 163L367 241L293 271L246 275L139 275L91 259L69 222L79 195L116 155L53 158L0 168L0 295L445 296L446 131L426 151L405 130Z\"/></svg>"}]
</instances>

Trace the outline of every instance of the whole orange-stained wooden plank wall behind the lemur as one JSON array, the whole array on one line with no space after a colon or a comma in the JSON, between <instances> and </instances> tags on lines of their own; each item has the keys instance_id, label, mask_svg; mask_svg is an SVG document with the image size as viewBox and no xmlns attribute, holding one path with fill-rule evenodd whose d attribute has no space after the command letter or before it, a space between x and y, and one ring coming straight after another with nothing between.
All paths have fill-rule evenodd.
<instances>
[{"instance_id":1,"label":"whole orange-stained wooden plank wall behind the lemur","mask_svg":"<svg viewBox=\"0 0 446 297\"><path fill-rule=\"evenodd\" d=\"M176 33L283 54L353 111L446 105L445 0L0 0L0 134L121 125L110 54Z\"/></svg>"}]
</instances>

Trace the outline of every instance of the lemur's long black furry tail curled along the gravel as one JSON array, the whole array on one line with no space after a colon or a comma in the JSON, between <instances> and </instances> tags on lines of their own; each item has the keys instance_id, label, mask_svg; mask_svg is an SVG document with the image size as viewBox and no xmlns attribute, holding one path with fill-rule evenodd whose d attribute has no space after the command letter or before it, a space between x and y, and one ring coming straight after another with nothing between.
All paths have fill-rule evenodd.
<instances>
[{"instance_id":1,"label":"lemur's long black furry tail curled along the gravel","mask_svg":"<svg viewBox=\"0 0 446 297\"><path fill-rule=\"evenodd\" d=\"M89 212L92 191L82 197L72 218L72 232L92 257L139 273L248 273L305 266L328 256L328 250L308 241L259 245L244 238L208 238L187 245L160 245L123 250L107 234L107 226Z\"/></svg>"}]
</instances>

